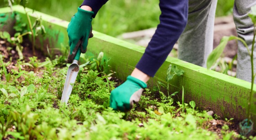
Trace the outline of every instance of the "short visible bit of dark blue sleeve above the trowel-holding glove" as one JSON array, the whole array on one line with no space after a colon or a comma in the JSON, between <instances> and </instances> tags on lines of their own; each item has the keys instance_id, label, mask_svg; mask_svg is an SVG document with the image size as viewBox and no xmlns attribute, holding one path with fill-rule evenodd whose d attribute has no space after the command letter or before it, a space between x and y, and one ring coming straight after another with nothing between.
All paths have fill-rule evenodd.
<instances>
[{"instance_id":1,"label":"short visible bit of dark blue sleeve above the trowel-holding glove","mask_svg":"<svg viewBox=\"0 0 256 140\"><path fill-rule=\"evenodd\" d=\"M82 2L81 6L87 5L87 6L91 7L91 9L94 12L93 18L95 18L96 14L98 13L98 11L102 7L102 5L104 5L107 1L108 0L84 0L84 2Z\"/></svg>"}]
</instances>

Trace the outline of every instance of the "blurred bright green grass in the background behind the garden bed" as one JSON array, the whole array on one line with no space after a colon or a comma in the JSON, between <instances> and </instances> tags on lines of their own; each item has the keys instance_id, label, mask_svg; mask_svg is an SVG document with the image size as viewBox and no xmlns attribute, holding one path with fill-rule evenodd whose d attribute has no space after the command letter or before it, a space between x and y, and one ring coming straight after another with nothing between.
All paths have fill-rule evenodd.
<instances>
[{"instance_id":1,"label":"blurred bright green grass in the background behind the garden bed","mask_svg":"<svg viewBox=\"0 0 256 140\"><path fill-rule=\"evenodd\" d=\"M27 7L69 21L83 0L29 0ZM93 29L110 36L156 27L159 0L109 0L93 19ZM218 0L216 16L232 14L234 0ZM8 6L0 0L0 7ZM136 23L136 24L135 24Z\"/></svg>"}]
</instances>

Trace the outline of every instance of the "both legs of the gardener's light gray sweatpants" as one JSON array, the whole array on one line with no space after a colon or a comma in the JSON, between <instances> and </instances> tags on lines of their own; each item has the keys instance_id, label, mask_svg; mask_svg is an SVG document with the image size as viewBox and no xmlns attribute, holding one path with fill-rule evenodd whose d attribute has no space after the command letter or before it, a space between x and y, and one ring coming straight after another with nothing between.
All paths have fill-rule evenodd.
<instances>
[{"instance_id":1,"label":"both legs of the gardener's light gray sweatpants","mask_svg":"<svg viewBox=\"0 0 256 140\"><path fill-rule=\"evenodd\" d=\"M238 36L252 48L253 24L247 13L255 0L235 0L234 22ZM206 67L213 48L214 17L217 0L189 0L189 15L185 30L178 40L178 58ZM254 65L256 65L254 49ZM255 69L254 69L255 71ZM237 78L251 82L251 61L246 47L238 42ZM255 83L255 81L254 81Z\"/></svg>"}]
</instances>

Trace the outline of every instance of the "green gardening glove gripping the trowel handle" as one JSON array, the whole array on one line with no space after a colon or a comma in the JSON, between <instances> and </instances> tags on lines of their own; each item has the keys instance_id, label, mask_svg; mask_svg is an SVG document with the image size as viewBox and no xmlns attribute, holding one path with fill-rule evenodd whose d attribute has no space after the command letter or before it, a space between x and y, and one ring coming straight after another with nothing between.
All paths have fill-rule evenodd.
<instances>
[{"instance_id":1,"label":"green gardening glove gripping the trowel handle","mask_svg":"<svg viewBox=\"0 0 256 140\"><path fill-rule=\"evenodd\" d=\"M81 53L85 53L87 50L88 40L93 37L91 33L91 21L93 11L85 11L78 7L77 13L71 18L67 27L67 33L69 36L69 56L68 63L71 63L76 56L78 48L80 47ZM81 43L79 43L81 40Z\"/></svg>"}]
</instances>

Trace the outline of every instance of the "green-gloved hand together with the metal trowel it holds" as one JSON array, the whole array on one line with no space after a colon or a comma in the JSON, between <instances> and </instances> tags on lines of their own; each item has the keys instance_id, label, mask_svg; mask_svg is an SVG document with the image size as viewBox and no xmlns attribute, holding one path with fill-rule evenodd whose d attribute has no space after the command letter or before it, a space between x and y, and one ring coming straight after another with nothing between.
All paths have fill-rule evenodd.
<instances>
[{"instance_id":1,"label":"green-gloved hand together with the metal trowel it holds","mask_svg":"<svg viewBox=\"0 0 256 140\"><path fill-rule=\"evenodd\" d=\"M78 8L78 12L71 18L71 22L68 25L67 32L69 36L70 51L67 62L72 64L67 71L67 77L61 97L62 102L67 103L69 100L73 88L71 83L76 81L76 76L79 71L78 60L80 54L87 51L88 40L93 37L93 34L91 33L91 20L93 14L93 11L85 11Z\"/></svg>"}]
</instances>

